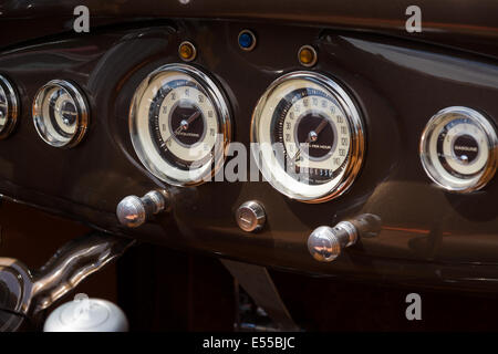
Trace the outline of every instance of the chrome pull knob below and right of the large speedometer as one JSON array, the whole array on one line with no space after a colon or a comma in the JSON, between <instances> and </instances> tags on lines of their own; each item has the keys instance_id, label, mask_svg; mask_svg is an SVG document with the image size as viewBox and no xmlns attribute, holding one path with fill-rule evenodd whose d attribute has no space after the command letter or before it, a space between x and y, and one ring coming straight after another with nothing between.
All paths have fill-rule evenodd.
<instances>
[{"instance_id":1,"label":"chrome pull knob below and right of the large speedometer","mask_svg":"<svg viewBox=\"0 0 498 354\"><path fill-rule=\"evenodd\" d=\"M364 214L353 220L341 221L335 227L321 226L308 238L308 250L320 262L332 262L341 252L356 243L360 237L375 237L381 230L381 219Z\"/></svg>"}]
</instances>

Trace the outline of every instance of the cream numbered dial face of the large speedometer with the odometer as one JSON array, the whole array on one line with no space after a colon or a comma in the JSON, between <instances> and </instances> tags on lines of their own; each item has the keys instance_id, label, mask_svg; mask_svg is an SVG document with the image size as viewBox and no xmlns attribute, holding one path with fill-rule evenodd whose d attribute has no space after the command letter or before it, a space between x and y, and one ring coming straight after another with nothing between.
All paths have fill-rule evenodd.
<instances>
[{"instance_id":1,"label":"cream numbered dial face of the large speedometer with the odometer","mask_svg":"<svg viewBox=\"0 0 498 354\"><path fill-rule=\"evenodd\" d=\"M289 175L320 185L343 170L350 129L330 94L309 87L294 90L279 102L273 115L272 143L281 147L284 158L280 162Z\"/></svg>"}]
</instances>

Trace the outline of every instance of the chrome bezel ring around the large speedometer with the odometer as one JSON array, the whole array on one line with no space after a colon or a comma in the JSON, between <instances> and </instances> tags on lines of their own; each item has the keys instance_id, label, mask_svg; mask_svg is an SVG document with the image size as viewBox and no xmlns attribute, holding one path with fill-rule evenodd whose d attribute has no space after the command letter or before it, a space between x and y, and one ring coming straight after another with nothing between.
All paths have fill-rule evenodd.
<instances>
[{"instance_id":1,"label":"chrome bezel ring around the large speedometer with the odometer","mask_svg":"<svg viewBox=\"0 0 498 354\"><path fill-rule=\"evenodd\" d=\"M291 190L288 186L286 186L279 178L276 178L272 171L271 166L269 166L268 162L263 158L260 158L258 155L260 154L260 148L258 144L260 142L260 119L266 108L266 104L269 98L272 96L274 91L283 83L291 80L304 80L310 81L314 84L321 86L326 93L329 93L340 105L340 108L345 114L347 119L347 125L350 127L350 136L351 136L351 146L346 154L347 164L342 173L342 177L339 179L335 185L331 186L325 192L315 194L300 194ZM295 199L302 202L308 204L318 204L329 201L331 199L338 198L343 195L356 179L357 175L363 165L364 156L365 156L365 129L363 125L363 119L361 117L360 108L353 102L353 98L349 93L334 80L323 74L310 71L297 71L284 74L273 81L263 95L259 98L255 111L252 113L251 121L251 154L252 158L256 160L261 174L268 180L273 188L276 188L281 194L286 195L291 199ZM311 186L311 188L315 188Z\"/></svg>"}]
</instances>

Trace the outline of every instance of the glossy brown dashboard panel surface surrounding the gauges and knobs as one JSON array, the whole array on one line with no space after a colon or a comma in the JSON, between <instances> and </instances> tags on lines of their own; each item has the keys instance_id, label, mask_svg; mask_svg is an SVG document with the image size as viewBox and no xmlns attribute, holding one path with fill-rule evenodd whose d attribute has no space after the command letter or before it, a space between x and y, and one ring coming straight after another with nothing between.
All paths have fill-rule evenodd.
<instances>
[{"instance_id":1,"label":"glossy brown dashboard panel surface surrounding the gauges and knobs","mask_svg":"<svg viewBox=\"0 0 498 354\"><path fill-rule=\"evenodd\" d=\"M243 29L258 35L253 51L238 46ZM319 61L311 71L340 82L364 119L366 155L352 187L312 205L264 181L168 187L149 174L129 138L132 97L152 71L180 62L177 50L185 40L198 51L190 64L225 91L232 139L246 146L261 94L282 74L303 70L297 61L301 45L317 48ZM463 105L498 117L498 66L485 56L386 35L225 20L108 27L0 54L0 73L21 101L17 131L0 140L2 195L111 232L300 272L484 289L498 277L496 181L468 195L444 191L426 176L418 156L427 121L444 107ZM44 144L32 123L34 95L53 79L75 82L89 100L87 134L71 149ZM118 201L156 188L170 189L173 212L135 230L120 227ZM261 232L246 233L236 223L236 209L247 200L264 207ZM376 238L362 239L333 263L311 258L307 240L314 228L366 212L382 219Z\"/></svg>"}]
</instances>

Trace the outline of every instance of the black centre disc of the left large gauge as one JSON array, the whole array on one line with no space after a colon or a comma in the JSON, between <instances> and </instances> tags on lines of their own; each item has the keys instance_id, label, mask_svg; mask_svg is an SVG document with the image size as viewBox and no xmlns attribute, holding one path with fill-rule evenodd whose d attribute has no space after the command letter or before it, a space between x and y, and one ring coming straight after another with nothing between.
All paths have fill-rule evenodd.
<instances>
[{"instance_id":1,"label":"black centre disc of the left large gauge","mask_svg":"<svg viewBox=\"0 0 498 354\"><path fill-rule=\"evenodd\" d=\"M203 139L205 123L203 113L189 102L180 102L172 112L172 129L175 138L185 145L194 145Z\"/></svg>"}]
</instances>

